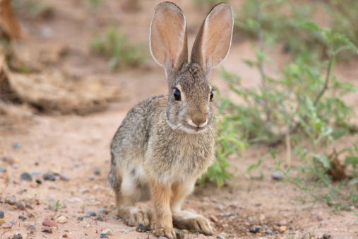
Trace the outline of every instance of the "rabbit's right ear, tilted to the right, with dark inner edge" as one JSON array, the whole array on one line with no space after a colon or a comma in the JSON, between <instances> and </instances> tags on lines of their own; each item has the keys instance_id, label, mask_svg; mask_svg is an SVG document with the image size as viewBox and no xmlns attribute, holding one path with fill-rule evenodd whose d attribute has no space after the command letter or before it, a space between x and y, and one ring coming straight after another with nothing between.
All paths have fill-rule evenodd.
<instances>
[{"instance_id":1,"label":"rabbit's right ear, tilted to the right, with dark inner edge","mask_svg":"<svg viewBox=\"0 0 358 239\"><path fill-rule=\"evenodd\" d=\"M233 25L232 8L225 3L214 6L201 25L191 52L191 62L199 64L205 76L227 56Z\"/></svg>"}]
</instances>

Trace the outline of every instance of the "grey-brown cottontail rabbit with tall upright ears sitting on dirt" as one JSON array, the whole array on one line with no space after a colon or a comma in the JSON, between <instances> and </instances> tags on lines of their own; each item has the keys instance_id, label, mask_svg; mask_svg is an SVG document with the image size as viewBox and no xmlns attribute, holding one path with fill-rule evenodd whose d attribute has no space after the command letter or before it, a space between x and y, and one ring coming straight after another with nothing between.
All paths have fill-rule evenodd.
<instances>
[{"instance_id":1,"label":"grey-brown cottontail rabbit with tall upright ears sitting on dirt","mask_svg":"<svg viewBox=\"0 0 358 239\"><path fill-rule=\"evenodd\" d=\"M186 18L172 2L159 4L150 25L150 52L165 69L168 94L133 107L112 139L109 185L129 226L176 238L173 226L212 235L204 216L181 203L215 158L213 88L208 74L227 57L233 14L217 4L203 21L188 62ZM152 200L153 210L136 202Z\"/></svg>"}]
</instances>

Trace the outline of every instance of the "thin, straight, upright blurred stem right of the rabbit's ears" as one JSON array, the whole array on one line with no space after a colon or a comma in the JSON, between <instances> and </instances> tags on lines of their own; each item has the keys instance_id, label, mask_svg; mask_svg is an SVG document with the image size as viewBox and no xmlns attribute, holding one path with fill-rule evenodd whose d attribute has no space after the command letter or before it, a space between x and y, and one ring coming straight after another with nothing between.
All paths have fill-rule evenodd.
<instances>
[{"instance_id":1,"label":"thin, straight, upright blurred stem right of the rabbit's ears","mask_svg":"<svg viewBox=\"0 0 358 239\"><path fill-rule=\"evenodd\" d=\"M260 51L263 52L263 34L262 34L262 29L261 29L261 7L260 7L260 1L259 0L255 0L255 5L256 5L256 21L259 24L258 30L257 30L257 37L258 37L258 43L260 45ZM261 74L261 83L262 83L262 88L263 91L267 91L267 86L266 86L266 78L265 78L265 71L263 69L263 61L262 59L260 59L260 61L258 62L258 70L260 71ZM265 99L263 99L263 107L265 107L265 112L266 112L266 121L268 123L268 127L270 127L270 108L268 107L268 103L266 102Z\"/></svg>"}]
</instances>

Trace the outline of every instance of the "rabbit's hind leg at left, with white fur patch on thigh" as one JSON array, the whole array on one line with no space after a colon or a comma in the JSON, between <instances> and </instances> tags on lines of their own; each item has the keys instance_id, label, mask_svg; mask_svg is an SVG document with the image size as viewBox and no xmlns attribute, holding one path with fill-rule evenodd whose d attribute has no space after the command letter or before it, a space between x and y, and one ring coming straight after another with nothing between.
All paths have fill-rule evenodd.
<instances>
[{"instance_id":1,"label":"rabbit's hind leg at left, with white fur patch on thigh","mask_svg":"<svg viewBox=\"0 0 358 239\"><path fill-rule=\"evenodd\" d=\"M128 175L124 175L121 189L116 190L115 193L118 216L123 219L124 223L128 226L142 224L145 228L149 228L152 211L138 209L135 205L136 202L150 198L150 189L141 183L141 180L136 177L135 171L132 170Z\"/></svg>"}]
</instances>

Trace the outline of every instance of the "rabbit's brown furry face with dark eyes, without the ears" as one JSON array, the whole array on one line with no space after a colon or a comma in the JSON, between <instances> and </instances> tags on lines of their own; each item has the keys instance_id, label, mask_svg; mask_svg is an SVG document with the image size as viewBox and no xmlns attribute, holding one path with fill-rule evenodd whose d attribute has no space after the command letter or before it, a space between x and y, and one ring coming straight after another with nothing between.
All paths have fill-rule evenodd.
<instances>
[{"instance_id":1,"label":"rabbit's brown furry face with dark eyes, without the ears","mask_svg":"<svg viewBox=\"0 0 358 239\"><path fill-rule=\"evenodd\" d=\"M174 130L205 132L213 121L213 89L197 64L186 64L169 87L167 122Z\"/></svg>"}]
</instances>

